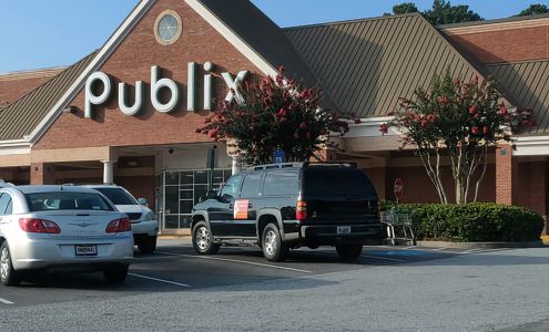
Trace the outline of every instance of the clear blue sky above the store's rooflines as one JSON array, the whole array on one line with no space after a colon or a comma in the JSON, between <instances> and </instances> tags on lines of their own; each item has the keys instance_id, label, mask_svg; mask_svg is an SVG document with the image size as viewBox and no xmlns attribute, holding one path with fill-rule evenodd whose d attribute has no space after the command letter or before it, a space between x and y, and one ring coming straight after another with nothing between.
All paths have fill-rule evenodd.
<instances>
[{"instance_id":1,"label":"clear blue sky above the store's rooflines","mask_svg":"<svg viewBox=\"0 0 549 332\"><path fill-rule=\"evenodd\" d=\"M230 1L230 0L227 0ZM433 0L252 0L281 27L372 18L394 4ZM70 65L101 48L139 0L0 0L0 73ZM549 0L451 0L485 19Z\"/></svg>"}]
</instances>

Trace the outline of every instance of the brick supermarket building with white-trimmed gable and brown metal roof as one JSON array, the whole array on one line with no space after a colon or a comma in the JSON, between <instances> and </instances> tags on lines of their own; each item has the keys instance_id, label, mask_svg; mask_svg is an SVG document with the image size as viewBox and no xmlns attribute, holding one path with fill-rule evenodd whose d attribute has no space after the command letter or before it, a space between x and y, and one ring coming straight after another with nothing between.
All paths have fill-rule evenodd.
<instances>
[{"instance_id":1,"label":"brick supermarket building with white-trimmed gable and brown metal roof","mask_svg":"<svg viewBox=\"0 0 549 332\"><path fill-rule=\"evenodd\" d=\"M494 149L479 199L547 216L549 96L538 82L549 75L549 17L434 29L420 15L401 15L283 30L247 0L226 2L143 0L102 49L73 66L48 72L51 77L0 75L0 96L10 100L0 105L0 178L114 181L150 201L162 232L177 232L210 179L217 185L238 167L223 144L195 133L210 113L209 102L228 98L231 87L237 92L240 75L260 80L285 65L292 76L319 84L327 105L363 118L343 138L345 152L329 152L329 159L356 162L382 198L393 198L399 177L404 201L436 201L417 157L398 152L397 133L382 136L378 125L398 97L448 68L464 77L498 73L510 106L535 108L540 127ZM98 73L110 89L93 79ZM121 103L135 104L140 81L143 105L126 115ZM152 93L166 82L175 90ZM89 102L104 90L111 91L108 98ZM159 112L174 92L175 106ZM211 176L206 155L214 145L217 164ZM451 186L449 173L446 180Z\"/></svg>"}]
</instances>

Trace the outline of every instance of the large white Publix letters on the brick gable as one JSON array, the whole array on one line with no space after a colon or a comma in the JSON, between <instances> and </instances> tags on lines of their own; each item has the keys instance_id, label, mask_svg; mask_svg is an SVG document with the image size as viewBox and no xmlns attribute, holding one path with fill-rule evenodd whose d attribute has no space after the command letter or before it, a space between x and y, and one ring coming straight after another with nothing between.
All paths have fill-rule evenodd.
<instances>
[{"instance_id":1,"label":"large white Publix letters on the brick gable","mask_svg":"<svg viewBox=\"0 0 549 332\"><path fill-rule=\"evenodd\" d=\"M202 98L196 95L199 90L200 80L197 77L199 64L196 62L189 63L189 73L187 73L187 84L186 84L186 108L187 111L196 111L199 100L201 100L203 110L211 111L212 110L212 96L213 96L213 75L212 72L214 70L214 64L211 62L206 62L203 64L203 69L206 74L202 77L202 82L204 84L204 93ZM225 101L232 102L236 100L237 102L242 101L242 95L238 92L240 86L250 74L248 71L241 71L236 76L233 76L231 73L222 73L221 76L226 84L227 94L225 96ZM98 83L102 83L103 90L98 93L94 92L94 86ZM135 82L135 95L133 104L129 104L129 91L126 89L125 83L119 83L118 86L118 96L119 96L119 108L125 115L138 115L143 107L144 104L144 95L145 95L145 84L143 81ZM94 72L91 74L85 82L85 108L84 108L84 117L93 117L93 107L94 105L101 105L105 103L112 94L113 91L113 80L103 72ZM171 97L167 102L159 100L159 91L162 89L170 90ZM175 110L177 104L181 101L181 91L180 85L166 77L160 76L160 68L157 65L151 66L151 89L150 89L150 101L157 112L161 113L170 113Z\"/></svg>"}]
</instances>

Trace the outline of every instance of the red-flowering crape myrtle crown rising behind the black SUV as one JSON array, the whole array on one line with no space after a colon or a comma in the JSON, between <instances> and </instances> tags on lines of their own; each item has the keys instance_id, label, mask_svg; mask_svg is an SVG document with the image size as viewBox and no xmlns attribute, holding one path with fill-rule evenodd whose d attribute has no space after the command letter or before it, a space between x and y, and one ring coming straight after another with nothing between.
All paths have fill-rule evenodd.
<instances>
[{"instance_id":1,"label":"red-flowering crape myrtle crown rising behind the black SUV","mask_svg":"<svg viewBox=\"0 0 549 332\"><path fill-rule=\"evenodd\" d=\"M305 162L328 146L331 134L348 132L347 121L319 106L321 90L284 77L284 68L276 77L245 82L240 94L222 102L196 132L228 142L246 164L268 164L278 148L286 160Z\"/></svg>"}]
</instances>

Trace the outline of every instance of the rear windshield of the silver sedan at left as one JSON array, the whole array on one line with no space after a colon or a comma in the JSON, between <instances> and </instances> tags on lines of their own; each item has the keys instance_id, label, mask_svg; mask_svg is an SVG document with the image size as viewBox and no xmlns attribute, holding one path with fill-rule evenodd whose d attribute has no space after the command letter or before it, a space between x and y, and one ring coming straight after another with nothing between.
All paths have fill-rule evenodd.
<instances>
[{"instance_id":1,"label":"rear windshield of the silver sedan at left","mask_svg":"<svg viewBox=\"0 0 549 332\"><path fill-rule=\"evenodd\" d=\"M50 210L114 210L99 194L91 193L31 193L24 195L29 211Z\"/></svg>"}]
</instances>

